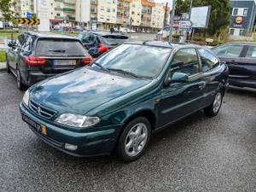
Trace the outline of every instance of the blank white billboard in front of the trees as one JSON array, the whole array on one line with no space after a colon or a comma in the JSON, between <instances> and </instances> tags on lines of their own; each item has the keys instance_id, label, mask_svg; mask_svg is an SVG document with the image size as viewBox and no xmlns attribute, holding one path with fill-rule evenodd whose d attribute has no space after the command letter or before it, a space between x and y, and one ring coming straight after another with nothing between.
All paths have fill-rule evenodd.
<instances>
[{"instance_id":1,"label":"blank white billboard in front of the trees","mask_svg":"<svg viewBox=\"0 0 256 192\"><path fill-rule=\"evenodd\" d=\"M191 9L190 20L193 28L207 28L211 15L211 6Z\"/></svg>"}]
</instances>

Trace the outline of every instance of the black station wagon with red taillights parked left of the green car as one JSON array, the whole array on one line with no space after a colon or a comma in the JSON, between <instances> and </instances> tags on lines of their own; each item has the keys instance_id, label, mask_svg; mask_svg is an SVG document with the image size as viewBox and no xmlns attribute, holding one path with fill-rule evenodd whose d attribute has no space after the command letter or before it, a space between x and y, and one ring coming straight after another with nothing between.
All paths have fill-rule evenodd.
<instances>
[{"instance_id":1,"label":"black station wagon with red taillights parked left of the green car","mask_svg":"<svg viewBox=\"0 0 256 192\"><path fill-rule=\"evenodd\" d=\"M77 38L34 32L22 33L10 42L6 57L7 71L15 74L20 90L92 61Z\"/></svg>"}]
</instances>

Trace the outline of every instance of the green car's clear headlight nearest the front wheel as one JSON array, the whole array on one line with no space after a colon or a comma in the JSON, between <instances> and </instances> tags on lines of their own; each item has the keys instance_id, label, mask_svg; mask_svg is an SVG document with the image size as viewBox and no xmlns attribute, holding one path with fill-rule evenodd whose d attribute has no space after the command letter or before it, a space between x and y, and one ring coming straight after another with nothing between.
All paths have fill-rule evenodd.
<instances>
[{"instance_id":1,"label":"green car's clear headlight nearest the front wheel","mask_svg":"<svg viewBox=\"0 0 256 192\"><path fill-rule=\"evenodd\" d=\"M61 116L55 119L55 122L63 125L85 128L96 125L98 122L100 122L100 118L88 117L80 114L63 113Z\"/></svg>"}]
</instances>

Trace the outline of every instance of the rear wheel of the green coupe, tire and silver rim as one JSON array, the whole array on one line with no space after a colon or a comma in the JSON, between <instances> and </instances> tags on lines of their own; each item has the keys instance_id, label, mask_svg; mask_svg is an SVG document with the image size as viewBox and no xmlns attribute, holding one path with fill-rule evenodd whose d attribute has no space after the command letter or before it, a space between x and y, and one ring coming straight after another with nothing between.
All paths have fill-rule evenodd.
<instances>
[{"instance_id":1,"label":"rear wheel of the green coupe, tire and silver rim","mask_svg":"<svg viewBox=\"0 0 256 192\"><path fill-rule=\"evenodd\" d=\"M204 108L204 113L206 113L207 116L210 116L210 117L216 116L222 106L222 102L223 102L223 94L220 90L218 90L212 104L207 108Z\"/></svg>"}]
</instances>

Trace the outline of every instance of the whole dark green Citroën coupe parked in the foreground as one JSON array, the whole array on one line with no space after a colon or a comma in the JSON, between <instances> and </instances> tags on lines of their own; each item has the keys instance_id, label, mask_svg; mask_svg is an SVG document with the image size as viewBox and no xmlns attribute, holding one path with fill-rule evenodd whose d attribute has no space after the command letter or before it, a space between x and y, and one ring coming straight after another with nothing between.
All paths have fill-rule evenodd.
<instances>
[{"instance_id":1,"label":"whole dark green Citro\u00ebn coupe parked in the foreground","mask_svg":"<svg viewBox=\"0 0 256 192\"><path fill-rule=\"evenodd\" d=\"M33 85L22 119L67 154L140 158L152 133L204 109L218 114L228 67L210 49L164 42L125 43L90 65Z\"/></svg>"}]
</instances>

